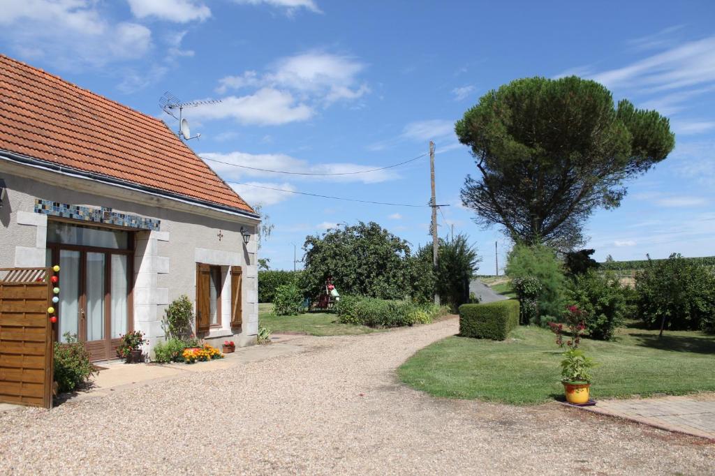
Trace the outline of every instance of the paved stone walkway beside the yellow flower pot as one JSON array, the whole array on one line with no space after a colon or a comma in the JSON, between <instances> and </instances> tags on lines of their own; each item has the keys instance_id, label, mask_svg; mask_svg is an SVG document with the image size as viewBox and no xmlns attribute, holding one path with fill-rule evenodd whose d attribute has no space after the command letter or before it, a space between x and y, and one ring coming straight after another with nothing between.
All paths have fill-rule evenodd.
<instances>
[{"instance_id":1,"label":"paved stone walkway beside the yellow flower pot","mask_svg":"<svg viewBox=\"0 0 715 476\"><path fill-rule=\"evenodd\" d=\"M584 410L715 441L715 393L599 400L595 406L584 407Z\"/></svg>"}]
</instances>

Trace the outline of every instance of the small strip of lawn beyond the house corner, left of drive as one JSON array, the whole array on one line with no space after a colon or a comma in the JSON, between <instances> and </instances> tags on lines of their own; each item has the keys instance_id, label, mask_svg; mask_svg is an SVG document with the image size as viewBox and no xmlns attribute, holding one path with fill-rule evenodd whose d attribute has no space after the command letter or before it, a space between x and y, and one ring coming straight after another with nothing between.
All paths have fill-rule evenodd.
<instances>
[{"instance_id":1,"label":"small strip of lawn beyond the house corner, left of drive","mask_svg":"<svg viewBox=\"0 0 715 476\"><path fill-rule=\"evenodd\" d=\"M367 326L341 324L335 314L330 312L309 312L297 316L274 316L271 314L273 304L258 304L258 323L272 332L301 332L303 334L355 335L380 332L384 329L373 329Z\"/></svg>"}]
</instances>

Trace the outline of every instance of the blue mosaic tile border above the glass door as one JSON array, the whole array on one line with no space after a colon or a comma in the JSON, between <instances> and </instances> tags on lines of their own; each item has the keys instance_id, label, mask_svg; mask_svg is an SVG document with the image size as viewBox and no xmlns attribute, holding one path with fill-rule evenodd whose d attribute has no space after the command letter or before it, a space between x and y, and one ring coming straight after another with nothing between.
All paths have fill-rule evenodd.
<instances>
[{"instance_id":1,"label":"blue mosaic tile border above the glass door","mask_svg":"<svg viewBox=\"0 0 715 476\"><path fill-rule=\"evenodd\" d=\"M51 217L70 218L82 222L104 223L119 227L150 229L159 231L161 220L139 217L126 213L112 212L111 208L91 208L81 205L69 205L52 202L51 200L35 199L35 213L50 215Z\"/></svg>"}]
</instances>

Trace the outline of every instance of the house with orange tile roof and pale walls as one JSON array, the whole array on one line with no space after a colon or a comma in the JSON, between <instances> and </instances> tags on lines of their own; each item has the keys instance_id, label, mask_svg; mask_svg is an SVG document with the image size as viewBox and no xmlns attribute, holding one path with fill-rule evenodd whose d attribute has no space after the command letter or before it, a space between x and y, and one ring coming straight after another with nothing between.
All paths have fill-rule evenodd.
<instances>
[{"instance_id":1,"label":"house with orange tile roof and pale walls","mask_svg":"<svg viewBox=\"0 0 715 476\"><path fill-rule=\"evenodd\" d=\"M0 268L59 264L57 339L93 360L169 302L197 337L255 342L260 218L164 122L0 55Z\"/></svg>"}]
</instances>

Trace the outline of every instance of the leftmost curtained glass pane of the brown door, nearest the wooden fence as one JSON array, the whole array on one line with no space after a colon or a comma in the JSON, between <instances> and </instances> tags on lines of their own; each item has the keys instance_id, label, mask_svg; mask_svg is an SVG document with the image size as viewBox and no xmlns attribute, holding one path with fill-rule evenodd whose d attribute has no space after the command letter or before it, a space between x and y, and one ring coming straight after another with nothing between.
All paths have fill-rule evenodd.
<instances>
[{"instance_id":1,"label":"leftmost curtained glass pane of the brown door, nearest the wooden fence","mask_svg":"<svg viewBox=\"0 0 715 476\"><path fill-rule=\"evenodd\" d=\"M59 251L59 341L67 342L65 332L79 334L79 252Z\"/></svg>"}]
</instances>

